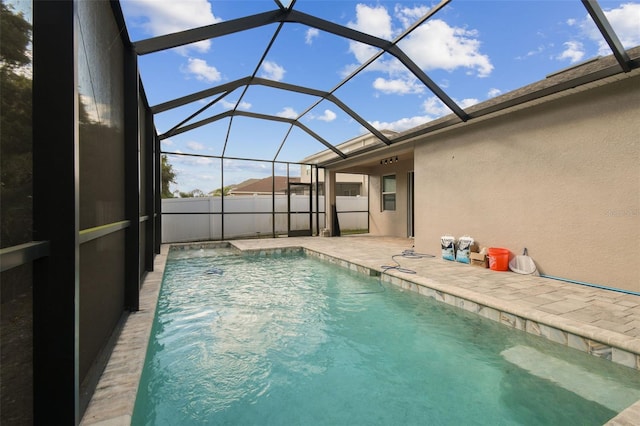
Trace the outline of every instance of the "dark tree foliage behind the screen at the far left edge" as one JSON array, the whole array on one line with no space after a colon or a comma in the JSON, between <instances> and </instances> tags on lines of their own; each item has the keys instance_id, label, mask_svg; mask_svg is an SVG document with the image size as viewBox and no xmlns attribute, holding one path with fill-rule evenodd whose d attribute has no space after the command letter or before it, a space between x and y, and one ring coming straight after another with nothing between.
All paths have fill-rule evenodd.
<instances>
[{"instance_id":1,"label":"dark tree foliage behind the screen at the far left edge","mask_svg":"<svg viewBox=\"0 0 640 426\"><path fill-rule=\"evenodd\" d=\"M33 239L31 25L0 2L0 248ZM0 424L33 424L31 267L2 273ZM8 308L8 309L5 309Z\"/></svg>"}]
</instances>

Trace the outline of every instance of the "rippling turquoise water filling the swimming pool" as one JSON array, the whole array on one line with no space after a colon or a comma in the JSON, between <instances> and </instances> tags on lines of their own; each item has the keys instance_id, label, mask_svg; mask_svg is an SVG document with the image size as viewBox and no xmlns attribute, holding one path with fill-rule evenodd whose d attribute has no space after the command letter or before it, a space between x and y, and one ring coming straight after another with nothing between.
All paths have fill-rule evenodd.
<instances>
[{"instance_id":1,"label":"rippling turquoise water filling the swimming pool","mask_svg":"<svg viewBox=\"0 0 640 426\"><path fill-rule=\"evenodd\" d=\"M601 425L631 369L302 254L172 251L134 425Z\"/></svg>"}]
</instances>

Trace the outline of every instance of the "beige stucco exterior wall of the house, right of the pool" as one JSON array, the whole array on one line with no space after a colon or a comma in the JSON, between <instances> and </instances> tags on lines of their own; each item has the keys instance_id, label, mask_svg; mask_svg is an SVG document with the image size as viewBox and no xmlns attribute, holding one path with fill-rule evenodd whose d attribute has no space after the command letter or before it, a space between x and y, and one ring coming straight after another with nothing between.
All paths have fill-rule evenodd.
<instances>
[{"instance_id":1,"label":"beige stucco exterior wall of the house, right of the pool","mask_svg":"<svg viewBox=\"0 0 640 426\"><path fill-rule=\"evenodd\" d=\"M425 137L415 143L416 251L470 235L543 274L640 291L640 77ZM406 235L406 194L371 232ZM406 181L404 181L406 184ZM377 204L376 204L377 203Z\"/></svg>"}]
</instances>

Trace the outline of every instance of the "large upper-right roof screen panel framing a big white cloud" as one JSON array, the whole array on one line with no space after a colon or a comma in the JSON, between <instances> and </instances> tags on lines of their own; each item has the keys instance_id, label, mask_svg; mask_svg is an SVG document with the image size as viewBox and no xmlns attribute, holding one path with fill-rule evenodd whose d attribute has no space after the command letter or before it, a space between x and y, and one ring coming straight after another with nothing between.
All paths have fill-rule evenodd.
<instances>
[{"instance_id":1,"label":"large upper-right roof screen panel framing a big white cloud","mask_svg":"<svg viewBox=\"0 0 640 426\"><path fill-rule=\"evenodd\" d=\"M586 14L580 1L451 2L399 46L452 98L481 102L594 56Z\"/></svg>"}]
</instances>

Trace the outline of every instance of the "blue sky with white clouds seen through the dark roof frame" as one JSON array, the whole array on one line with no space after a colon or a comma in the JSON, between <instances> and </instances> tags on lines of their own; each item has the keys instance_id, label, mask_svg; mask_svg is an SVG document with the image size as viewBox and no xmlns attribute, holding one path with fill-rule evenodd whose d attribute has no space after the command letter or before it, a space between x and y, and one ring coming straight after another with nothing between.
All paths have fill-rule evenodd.
<instances>
[{"instance_id":1,"label":"blue sky with white clouds seen through the dark roof frame","mask_svg":"<svg viewBox=\"0 0 640 426\"><path fill-rule=\"evenodd\" d=\"M272 0L122 0L121 4L133 41L277 8ZM295 9L393 40L436 4L298 0ZM600 6L626 48L640 45L640 1L600 1ZM263 26L141 56L140 73L150 104L252 75L276 28L275 24ZM463 109L544 79L559 69L610 54L579 0L453 0L399 47ZM257 76L329 91L375 53L373 47L287 23ZM229 110L239 101L238 109L296 118L317 101L312 96L264 86L251 86L242 96L243 89L229 93L194 121ZM450 113L389 55L358 73L335 95L377 129L403 131ZM211 100L156 115L158 131L169 130ZM300 122L331 144L366 132L327 101L302 116ZM227 118L173 136L162 147L172 152L278 161L299 161L325 149L304 131L293 128L278 151L289 127L236 117L229 131ZM218 161L172 157L172 162L179 174L179 189L207 192L220 186ZM271 172L270 165L252 165L255 177ZM225 185L237 183L232 180L233 174L225 171Z\"/></svg>"}]
</instances>

